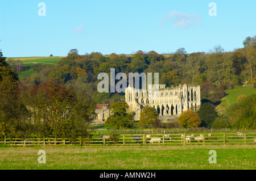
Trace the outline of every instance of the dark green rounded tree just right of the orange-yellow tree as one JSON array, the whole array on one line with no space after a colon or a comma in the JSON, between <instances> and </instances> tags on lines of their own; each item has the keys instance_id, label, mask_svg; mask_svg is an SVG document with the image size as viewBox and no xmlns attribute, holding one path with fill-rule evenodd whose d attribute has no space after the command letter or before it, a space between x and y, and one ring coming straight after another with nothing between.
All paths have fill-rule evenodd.
<instances>
[{"instance_id":1,"label":"dark green rounded tree just right of the orange-yellow tree","mask_svg":"<svg viewBox=\"0 0 256 181\"><path fill-rule=\"evenodd\" d=\"M211 103L201 104L197 114L201 120L201 127L212 127L213 121L217 117L217 112L215 111L215 107Z\"/></svg>"}]
</instances>

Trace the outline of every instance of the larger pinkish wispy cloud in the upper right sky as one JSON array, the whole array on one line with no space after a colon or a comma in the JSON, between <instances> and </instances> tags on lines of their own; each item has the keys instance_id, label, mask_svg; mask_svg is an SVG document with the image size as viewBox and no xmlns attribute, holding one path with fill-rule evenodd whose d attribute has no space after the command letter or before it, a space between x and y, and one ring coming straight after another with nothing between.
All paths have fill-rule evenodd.
<instances>
[{"instance_id":1,"label":"larger pinkish wispy cloud in the upper right sky","mask_svg":"<svg viewBox=\"0 0 256 181\"><path fill-rule=\"evenodd\" d=\"M174 28L193 28L196 24L200 23L200 18L195 14L170 11L160 19L160 26L163 26L164 23L169 21L174 21Z\"/></svg>"}]
</instances>

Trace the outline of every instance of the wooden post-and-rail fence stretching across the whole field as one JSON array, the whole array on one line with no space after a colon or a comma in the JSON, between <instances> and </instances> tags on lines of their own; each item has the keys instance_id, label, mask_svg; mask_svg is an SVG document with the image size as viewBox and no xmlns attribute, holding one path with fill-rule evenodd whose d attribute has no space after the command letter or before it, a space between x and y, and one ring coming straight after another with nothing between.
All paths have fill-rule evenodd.
<instances>
[{"instance_id":1,"label":"wooden post-and-rail fence stretching across the whole field","mask_svg":"<svg viewBox=\"0 0 256 181\"><path fill-rule=\"evenodd\" d=\"M114 137L94 135L92 138L2 138L0 146L60 146L60 145L228 145L256 144L256 132L244 133L176 133L176 134L116 134Z\"/></svg>"}]
</instances>

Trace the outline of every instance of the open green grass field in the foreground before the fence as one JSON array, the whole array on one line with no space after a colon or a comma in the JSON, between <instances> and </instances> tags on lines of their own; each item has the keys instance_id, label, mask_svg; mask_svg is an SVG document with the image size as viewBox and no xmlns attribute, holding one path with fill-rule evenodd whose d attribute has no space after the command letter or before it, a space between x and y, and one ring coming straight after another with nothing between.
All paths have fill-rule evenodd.
<instances>
[{"instance_id":1,"label":"open green grass field in the foreground before the fence","mask_svg":"<svg viewBox=\"0 0 256 181\"><path fill-rule=\"evenodd\" d=\"M256 169L255 148L253 145L0 148L0 169ZM46 151L46 164L38 163L39 150ZM217 163L209 163L210 150L216 151Z\"/></svg>"}]
</instances>

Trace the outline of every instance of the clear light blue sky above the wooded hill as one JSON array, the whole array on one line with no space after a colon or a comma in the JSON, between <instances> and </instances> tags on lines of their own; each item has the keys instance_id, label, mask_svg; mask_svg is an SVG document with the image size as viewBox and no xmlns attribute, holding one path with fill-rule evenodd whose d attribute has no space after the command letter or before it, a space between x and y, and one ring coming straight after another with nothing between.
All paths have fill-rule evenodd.
<instances>
[{"instance_id":1,"label":"clear light blue sky above the wooded hill","mask_svg":"<svg viewBox=\"0 0 256 181\"><path fill-rule=\"evenodd\" d=\"M0 49L5 57L229 52L256 35L255 8L255 0L0 0Z\"/></svg>"}]
</instances>

